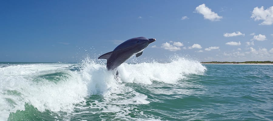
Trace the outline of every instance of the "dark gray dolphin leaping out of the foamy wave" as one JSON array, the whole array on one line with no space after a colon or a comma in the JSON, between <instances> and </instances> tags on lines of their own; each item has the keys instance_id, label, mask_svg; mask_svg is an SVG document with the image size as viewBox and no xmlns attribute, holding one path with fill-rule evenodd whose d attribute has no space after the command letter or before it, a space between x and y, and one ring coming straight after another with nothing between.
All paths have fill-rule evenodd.
<instances>
[{"instance_id":1,"label":"dark gray dolphin leaping out of the foamy wave","mask_svg":"<svg viewBox=\"0 0 273 121\"><path fill-rule=\"evenodd\" d=\"M118 45L113 51L101 55L98 59L106 59L107 69L114 70L134 55L139 57L142 51L154 41L156 39L147 39L145 37L132 38Z\"/></svg>"}]
</instances>

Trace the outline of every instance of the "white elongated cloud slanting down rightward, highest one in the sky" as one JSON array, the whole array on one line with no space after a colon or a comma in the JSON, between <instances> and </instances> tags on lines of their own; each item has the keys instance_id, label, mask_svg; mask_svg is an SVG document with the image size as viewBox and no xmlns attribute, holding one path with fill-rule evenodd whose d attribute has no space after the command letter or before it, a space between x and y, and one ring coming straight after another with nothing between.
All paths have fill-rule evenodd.
<instances>
[{"instance_id":1,"label":"white elongated cloud slanting down rightward, highest one in the sky","mask_svg":"<svg viewBox=\"0 0 273 121\"><path fill-rule=\"evenodd\" d=\"M205 4L199 5L195 8L195 11L199 14L204 15L204 19L211 21L220 21L222 16L218 16L217 13L211 11L211 8L208 8Z\"/></svg>"}]
</instances>

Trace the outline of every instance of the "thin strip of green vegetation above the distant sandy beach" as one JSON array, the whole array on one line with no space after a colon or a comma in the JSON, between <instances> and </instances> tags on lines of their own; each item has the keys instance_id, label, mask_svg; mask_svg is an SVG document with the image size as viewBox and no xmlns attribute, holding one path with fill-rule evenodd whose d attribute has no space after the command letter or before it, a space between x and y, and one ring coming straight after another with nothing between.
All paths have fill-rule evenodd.
<instances>
[{"instance_id":1,"label":"thin strip of green vegetation above the distant sandy beach","mask_svg":"<svg viewBox=\"0 0 273 121\"><path fill-rule=\"evenodd\" d=\"M245 62L211 61L211 62L201 62L201 64L273 64L273 61L245 61Z\"/></svg>"}]
</instances>

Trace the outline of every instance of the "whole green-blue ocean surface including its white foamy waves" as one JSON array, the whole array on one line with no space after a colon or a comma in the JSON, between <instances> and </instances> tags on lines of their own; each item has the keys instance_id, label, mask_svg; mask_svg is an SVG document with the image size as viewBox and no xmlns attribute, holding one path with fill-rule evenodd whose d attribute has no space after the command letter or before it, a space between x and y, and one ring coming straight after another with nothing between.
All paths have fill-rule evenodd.
<instances>
[{"instance_id":1,"label":"whole green-blue ocean surface including its white foamy waves","mask_svg":"<svg viewBox=\"0 0 273 121\"><path fill-rule=\"evenodd\" d=\"M0 63L0 121L272 121L273 65Z\"/></svg>"}]
</instances>

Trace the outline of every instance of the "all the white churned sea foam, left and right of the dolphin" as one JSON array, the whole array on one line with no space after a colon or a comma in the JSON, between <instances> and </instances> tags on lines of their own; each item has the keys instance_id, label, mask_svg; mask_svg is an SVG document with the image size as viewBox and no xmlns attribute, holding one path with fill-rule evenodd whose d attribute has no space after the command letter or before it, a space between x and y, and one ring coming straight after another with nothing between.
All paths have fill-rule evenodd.
<instances>
[{"instance_id":1,"label":"all the white churned sea foam, left and right of the dolphin","mask_svg":"<svg viewBox=\"0 0 273 121\"><path fill-rule=\"evenodd\" d=\"M74 104L84 104L85 97L94 94L104 97L103 102L95 102L103 112L116 112L126 117L130 108L116 105L150 102L146 95L125 86L125 83L176 83L187 74L202 74L206 70L200 63L183 58L170 63L124 63L118 67L120 81L116 81L114 73L108 71L105 64L90 59L76 65L81 66L80 71L71 71L69 66L72 64L23 64L0 68L0 120L6 120L16 110L25 110L25 103L39 111L69 113L74 110ZM60 75L61 80L57 82L41 77L58 72L65 75ZM120 96L128 94L130 96Z\"/></svg>"}]
</instances>

